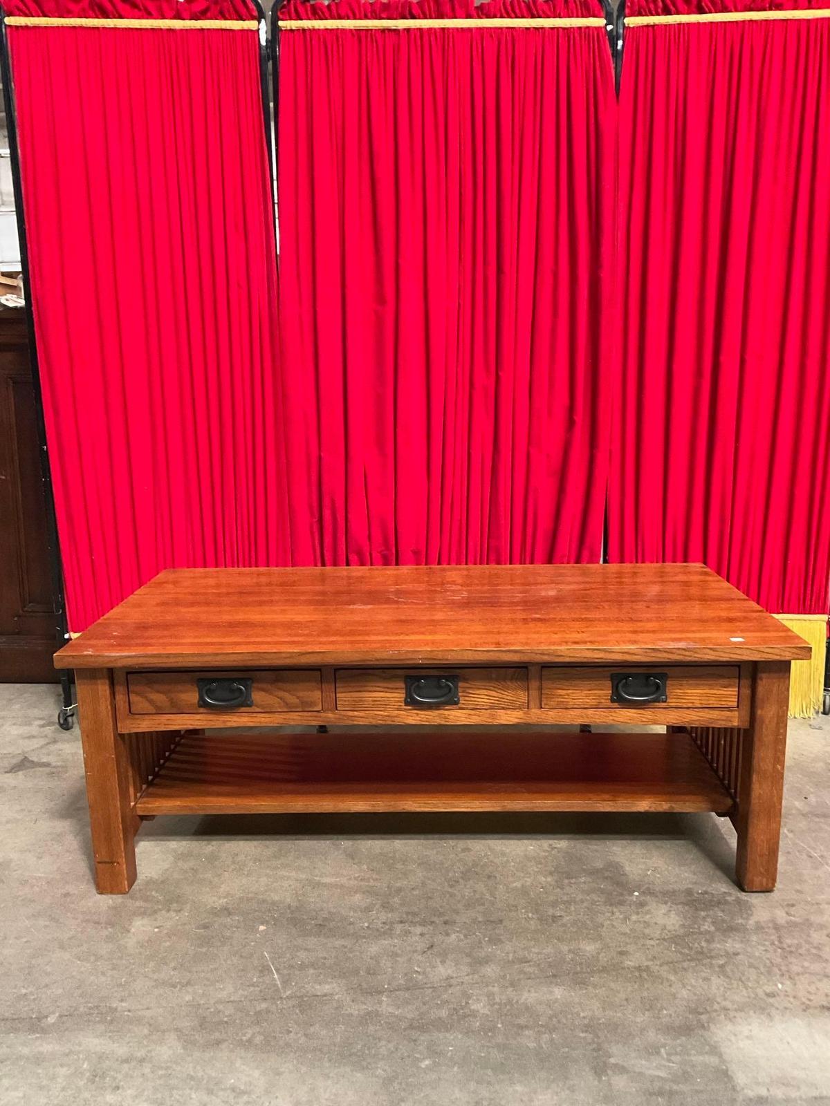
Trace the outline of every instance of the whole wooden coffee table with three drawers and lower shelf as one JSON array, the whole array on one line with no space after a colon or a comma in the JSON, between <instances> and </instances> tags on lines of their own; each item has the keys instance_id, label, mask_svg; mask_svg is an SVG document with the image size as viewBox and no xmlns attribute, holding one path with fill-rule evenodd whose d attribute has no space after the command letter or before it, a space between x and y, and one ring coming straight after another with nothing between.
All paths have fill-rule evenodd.
<instances>
[{"instance_id":1,"label":"whole wooden coffee table with three drawers and lower shelf","mask_svg":"<svg viewBox=\"0 0 830 1106\"><path fill-rule=\"evenodd\" d=\"M104 894L132 887L144 818L299 811L714 811L738 884L768 891L809 656L702 565L205 568L162 573L55 665Z\"/></svg>"}]
</instances>

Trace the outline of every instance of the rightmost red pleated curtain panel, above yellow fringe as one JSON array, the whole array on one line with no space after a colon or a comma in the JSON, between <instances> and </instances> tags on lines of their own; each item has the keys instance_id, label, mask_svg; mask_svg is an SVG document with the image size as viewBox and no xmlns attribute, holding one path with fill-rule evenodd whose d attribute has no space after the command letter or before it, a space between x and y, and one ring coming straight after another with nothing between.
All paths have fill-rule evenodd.
<instances>
[{"instance_id":1,"label":"rightmost red pleated curtain panel, above yellow fringe","mask_svg":"<svg viewBox=\"0 0 830 1106\"><path fill-rule=\"evenodd\" d=\"M610 559L824 613L830 20L631 27L620 118Z\"/></svg>"}]
</instances>

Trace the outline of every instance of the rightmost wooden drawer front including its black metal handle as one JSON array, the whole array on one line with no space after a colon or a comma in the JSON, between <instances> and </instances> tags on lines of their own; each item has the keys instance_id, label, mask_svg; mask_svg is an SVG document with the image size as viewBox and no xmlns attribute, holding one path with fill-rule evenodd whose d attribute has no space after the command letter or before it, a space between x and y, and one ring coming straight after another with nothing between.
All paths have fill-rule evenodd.
<instances>
[{"instance_id":1,"label":"rightmost wooden drawer front including its black metal handle","mask_svg":"<svg viewBox=\"0 0 830 1106\"><path fill-rule=\"evenodd\" d=\"M738 706L737 665L615 665L542 668L542 708L614 710ZM613 696L613 698L612 698Z\"/></svg>"}]
</instances>

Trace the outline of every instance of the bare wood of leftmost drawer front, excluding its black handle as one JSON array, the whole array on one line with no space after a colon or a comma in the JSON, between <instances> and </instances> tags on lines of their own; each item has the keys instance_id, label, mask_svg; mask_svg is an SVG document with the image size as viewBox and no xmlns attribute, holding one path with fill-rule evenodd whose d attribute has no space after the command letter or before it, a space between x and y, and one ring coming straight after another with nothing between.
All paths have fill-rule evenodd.
<instances>
[{"instance_id":1,"label":"bare wood of leftmost drawer front, excluding its black handle","mask_svg":"<svg viewBox=\"0 0 830 1106\"><path fill-rule=\"evenodd\" d=\"M193 672L128 672L127 697L131 714L218 713L199 707L197 679L252 679L252 707L236 707L228 713L261 714L284 711L315 711L323 706L320 671L314 669L199 669ZM146 724L146 723L145 723Z\"/></svg>"}]
</instances>

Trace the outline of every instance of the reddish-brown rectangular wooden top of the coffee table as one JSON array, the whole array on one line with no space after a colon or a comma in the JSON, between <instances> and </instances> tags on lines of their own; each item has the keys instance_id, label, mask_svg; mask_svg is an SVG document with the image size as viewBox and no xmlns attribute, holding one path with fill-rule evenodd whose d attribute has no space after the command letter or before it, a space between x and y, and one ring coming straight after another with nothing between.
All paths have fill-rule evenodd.
<instances>
[{"instance_id":1,"label":"reddish-brown rectangular wooden top of the coffee table","mask_svg":"<svg viewBox=\"0 0 830 1106\"><path fill-rule=\"evenodd\" d=\"M61 649L55 667L809 656L703 565L177 568Z\"/></svg>"}]
</instances>

